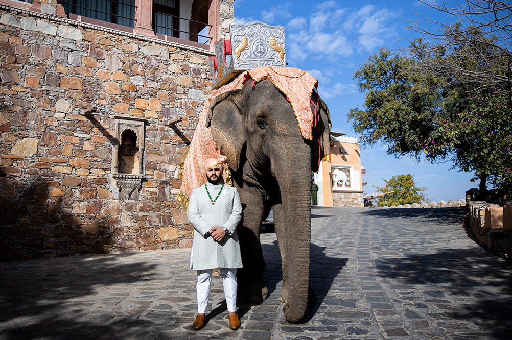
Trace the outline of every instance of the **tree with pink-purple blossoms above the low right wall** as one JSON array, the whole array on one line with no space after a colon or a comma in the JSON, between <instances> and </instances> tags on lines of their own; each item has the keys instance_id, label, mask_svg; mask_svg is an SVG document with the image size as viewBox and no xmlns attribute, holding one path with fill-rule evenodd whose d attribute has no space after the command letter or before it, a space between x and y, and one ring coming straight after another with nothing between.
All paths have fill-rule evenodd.
<instances>
[{"instance_id":1,"label":"tree with pink-purple blossoms above the low right wall","mask_svg":"<svg viewBox=\"0 0 512 340\"><path fill-rule=\"evenodd\" d=\"M498 194L512 192L512 126L506 95L496 90L464 101L459 119L445 119L425 142L425 153L452 152L454 167L474 173L486 196L487 180Z\"/></svg>"}]
</instances>

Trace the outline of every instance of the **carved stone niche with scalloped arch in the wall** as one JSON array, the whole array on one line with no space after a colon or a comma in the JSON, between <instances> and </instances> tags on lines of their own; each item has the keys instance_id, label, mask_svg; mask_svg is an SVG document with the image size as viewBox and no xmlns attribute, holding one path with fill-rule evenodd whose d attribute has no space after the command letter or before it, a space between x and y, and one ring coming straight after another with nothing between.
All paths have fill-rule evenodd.
<instances>
[{"instance_id":1,"label":"carved stone niche with scalloped arch in the wall","mask_svg":"<svg viewBox=\"0 0 512 340\"><path fill-rule=\"evenodd\" d=\"M145 182L144 125L140 118L115 116L116 135L112 152L110 190L116 199L140 198Z\"/></svg>"}]
</instances>

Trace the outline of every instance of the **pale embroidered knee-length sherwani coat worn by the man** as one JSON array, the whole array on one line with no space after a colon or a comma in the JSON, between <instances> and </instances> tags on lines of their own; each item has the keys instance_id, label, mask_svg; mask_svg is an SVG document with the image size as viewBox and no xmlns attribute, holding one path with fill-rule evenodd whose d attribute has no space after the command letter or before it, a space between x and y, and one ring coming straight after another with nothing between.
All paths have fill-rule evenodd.
<instances>
[{"instance_id":1,"label":"pale embroidered knee-length sherwani coat worn by the man","mask_svg":"<svg viewBox=\"0 0 512 340\"><path fill-rule=\"evenodd\" d=\"M215 199L221 183L213 185L207 182L206 185L211 198ZM188 220L195 229L190 268L241 268L242 257L237 235L237 225L241 217L242 205L237 189L224 185L214 205L211 204L204 185L195 189L188 202ZM216 242L207 234L208 230L219 226L230 233L226 233L222 242Z\"/></svg>"}]
</instances>

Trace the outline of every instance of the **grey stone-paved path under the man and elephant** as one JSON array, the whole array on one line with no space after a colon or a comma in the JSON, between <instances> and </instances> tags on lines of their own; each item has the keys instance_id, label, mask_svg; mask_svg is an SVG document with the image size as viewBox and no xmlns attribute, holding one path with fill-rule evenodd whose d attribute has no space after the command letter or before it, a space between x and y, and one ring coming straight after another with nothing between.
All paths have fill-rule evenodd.
<instances>
[{"instance_id":1,"label":"grey stone-paved path under the man and elephant","mask_svg":"<svg viewBox=\"0 0 512 340\"><path fill-rule=\"evenodd\" d=\"M479 247L460 208L312 211L306 322L284 320L275 234L270 298L228 328L220 278L200 331L190 250L0 264L0 339L510 339L512 265Z\"/></svg>"}]
</instances>

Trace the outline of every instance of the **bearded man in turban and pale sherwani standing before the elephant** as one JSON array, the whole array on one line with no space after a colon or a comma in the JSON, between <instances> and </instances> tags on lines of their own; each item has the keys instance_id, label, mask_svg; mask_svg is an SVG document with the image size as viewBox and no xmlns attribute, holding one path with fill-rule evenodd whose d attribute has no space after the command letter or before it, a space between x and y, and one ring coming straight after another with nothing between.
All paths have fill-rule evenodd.
<instances>
[{"instance_id":1,"label":"bearded man in turban and pale sherwani standing before the elephant","mask_svg":"<svg viewBox=\"0 0 512 340\"><path fill-rule=\"evenodd\" d=\"M190 268L197 270L198 315L194 329L201 329L205 322L206 306L210 296L212 269L220 268L229 327L237 330L237 268L242 267L237 225L242 205L237 189L222 183L224 165L215 158L205 162L205 185L195 189L188 202L188 220L194 225L194 243Z\"/></svg>"}]
</instances>

